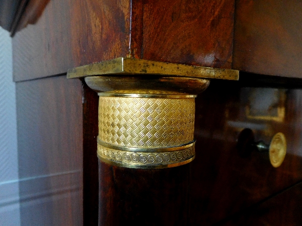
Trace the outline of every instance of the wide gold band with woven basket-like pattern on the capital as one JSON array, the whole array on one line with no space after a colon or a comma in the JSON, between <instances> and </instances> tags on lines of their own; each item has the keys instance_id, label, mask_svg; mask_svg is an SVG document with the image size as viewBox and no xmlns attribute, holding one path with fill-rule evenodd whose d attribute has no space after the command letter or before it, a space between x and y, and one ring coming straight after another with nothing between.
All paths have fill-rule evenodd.
<instances>
[{"instance_id":1,"label":"wide gold band with woven basket-like pattern on the capital","mask_svg":"<svg viewBox=\"0 0 302 226\"><path fill-rule=\"evenodd\" d=\"M99 98L99 139L136 148L175 147L194 140L194 98Z\"/></svg>"}]
</instances>

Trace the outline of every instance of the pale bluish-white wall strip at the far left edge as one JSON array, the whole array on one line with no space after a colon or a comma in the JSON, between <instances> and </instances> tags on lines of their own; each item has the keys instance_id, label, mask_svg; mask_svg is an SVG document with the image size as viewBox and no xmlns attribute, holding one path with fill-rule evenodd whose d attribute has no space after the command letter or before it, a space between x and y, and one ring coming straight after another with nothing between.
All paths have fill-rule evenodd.
<instances>
[{"instance_id":1,"label":"pale bluish-white wall strip at the far left edge","mask_svg":"<svg viewBox=\"0 0 302 226\"><path fill-rule=\"evenodd\" d=\"M12 39L0 27L0 225L20 225Z\"/></svg>"}]
</instances>

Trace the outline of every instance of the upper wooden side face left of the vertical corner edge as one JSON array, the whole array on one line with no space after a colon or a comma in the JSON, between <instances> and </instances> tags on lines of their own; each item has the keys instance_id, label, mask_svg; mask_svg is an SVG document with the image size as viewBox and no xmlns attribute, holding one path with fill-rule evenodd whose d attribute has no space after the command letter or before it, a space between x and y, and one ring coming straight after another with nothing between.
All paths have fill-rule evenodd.
<instances>
[{"instance_id":1,"label":"upper wooden side face left of the vertical corner edge","mask_svg":"<svg viewBox=\"0 0 302 226\"><path fill-rule=\"evenodd\" d=\"M129 8L129 0L31 0L13 38L15 81L126 56Z\"/></svg>"}]
</instances>

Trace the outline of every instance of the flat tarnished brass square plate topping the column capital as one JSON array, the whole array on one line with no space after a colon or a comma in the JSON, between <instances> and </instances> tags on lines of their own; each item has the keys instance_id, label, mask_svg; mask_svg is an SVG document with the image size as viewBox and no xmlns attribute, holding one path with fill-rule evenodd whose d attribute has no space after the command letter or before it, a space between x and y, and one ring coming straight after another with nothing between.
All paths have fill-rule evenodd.
<instances>
[{"instance_id":1,"label":"flat tarnished brass square plate topping the column capital","mask_svg":"<svg viewBox=\"0 0 302 226\"><path fill-rule=\"evenodd\" d=\"M67 71L67 78L81 78L92 75L170 75L196 78L218 78L238 80L239 71L184 64L157 62L133 58L116 58L100 63L89 64Z\"/></svg>"}]
</instances>

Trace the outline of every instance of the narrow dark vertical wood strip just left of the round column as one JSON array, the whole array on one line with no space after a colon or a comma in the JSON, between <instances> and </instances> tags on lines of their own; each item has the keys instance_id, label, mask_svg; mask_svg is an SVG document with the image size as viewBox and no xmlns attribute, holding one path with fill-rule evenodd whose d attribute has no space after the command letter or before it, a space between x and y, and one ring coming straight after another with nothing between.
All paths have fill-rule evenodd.
<instances>
[{"instance_id":1,"label":"narrow dark vertical wood strip just left of the round column","mask_svg":"<svg viewBox=\"0 0 302 226\"><path fill-rule=\"evenodd\" d=\"M83 98L83 225L98 225L99 176L97 158L98 94L84 82Z\"/></svg>"}]
</instances>

